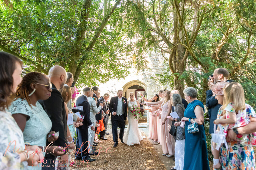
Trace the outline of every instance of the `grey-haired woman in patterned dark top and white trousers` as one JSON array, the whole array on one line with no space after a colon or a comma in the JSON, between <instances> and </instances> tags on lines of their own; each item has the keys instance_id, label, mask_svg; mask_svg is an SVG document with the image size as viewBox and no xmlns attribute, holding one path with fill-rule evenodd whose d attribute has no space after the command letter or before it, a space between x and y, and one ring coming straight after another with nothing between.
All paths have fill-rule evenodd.
<instances>
[{"instance_id":1,"label":"grey-haired woman in patterned dark top and white trousers","mask_svg":"<svg viewBox=\"0 0 256 170\"><path fill-rule=\"evenodd\" d=\"M181 118L184 117L185 108L182 103L182 98L179 94L173 94L171 97L172 106L174 106L175 111L178 114L178 118L173 119L170 116L171 121L175 121L174 125L177 126L176 129L176 139L175 142L175 167L173 169L182 170L184 165L184 146L185 146L185 129L180 127Z\"/></svg>"}]
</instances>

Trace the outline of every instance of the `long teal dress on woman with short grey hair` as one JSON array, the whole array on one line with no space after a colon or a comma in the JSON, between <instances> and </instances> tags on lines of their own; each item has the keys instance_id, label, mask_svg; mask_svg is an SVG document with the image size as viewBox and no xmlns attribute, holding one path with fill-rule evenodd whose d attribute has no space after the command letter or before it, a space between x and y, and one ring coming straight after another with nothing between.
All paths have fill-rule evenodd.
<instances>
[{"instance_id":1,"label":"long teal dress on woman with short grey hair","mask_svg":"<svg viewBox=\"0 0 256 170\"><path fill-rule=\"evenodd\" d=\"M194 100L188 104L187 108L185 109L184 116L196 119L194 109L197 105L204 109L204 104L201 101ZM210 169L204 126L198 125L199 132L190 134L187 131L189 124L190 122L186 121L184 170Z\"/></svg>"}]
</instances>

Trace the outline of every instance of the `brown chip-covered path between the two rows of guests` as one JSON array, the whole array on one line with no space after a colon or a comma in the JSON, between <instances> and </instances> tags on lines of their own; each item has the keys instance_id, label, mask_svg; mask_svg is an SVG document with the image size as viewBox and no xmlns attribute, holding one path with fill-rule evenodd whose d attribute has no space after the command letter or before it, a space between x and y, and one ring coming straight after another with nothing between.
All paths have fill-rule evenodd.
<instances>
[{"instance_id":1,"label":"brown chip-covered path between the two rows of guests","mask_svg":"<svg viewBox=\"0 0 256 170\"><path fill-rule=\"evenodd\" d=\"M108 140L102 140L96 147L96 150L99 150L101 147L100 154L98 156L91 156L91 158L97 160L89 162L88 164L87 162L74 163L74 167L71 167L72 170L166 169L147 137L141 141L140 145L133 147L121 143L120 139L118 139L118 146L113 148L112 129L109 128L107 131L109 135L105 137L108 138ZM142 132L142 136L146 135ZM108 153L106 153L106 149L108 149ZM75 161L74 154L71 155L71 159Z\"/></svg>"}]
</instances>

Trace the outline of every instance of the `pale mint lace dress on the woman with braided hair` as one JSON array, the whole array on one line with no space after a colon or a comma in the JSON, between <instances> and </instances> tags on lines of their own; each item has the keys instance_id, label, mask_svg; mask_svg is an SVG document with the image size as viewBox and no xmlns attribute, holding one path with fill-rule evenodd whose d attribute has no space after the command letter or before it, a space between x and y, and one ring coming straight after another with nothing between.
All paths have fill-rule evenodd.
<instances>
[{"instance_id":1,"label":"pale mint lace dress on the woman with braided hair","mask_svg":"<svg viewBox=\"0 0 256 170\"><path fill-rule=\"evenodd\" d=\"M51 129L51 120L39 102L36 106L29 106L27 100L17 99L12 102L8 111L12 114L21 113L27 115L27 122L23 132L24 142L30 145L46 146L46 136ZM45 152L43 152L45 155ZM28 166L28 169L39 170L41 164L35 167Z\"/></svg>"}]
</instances>

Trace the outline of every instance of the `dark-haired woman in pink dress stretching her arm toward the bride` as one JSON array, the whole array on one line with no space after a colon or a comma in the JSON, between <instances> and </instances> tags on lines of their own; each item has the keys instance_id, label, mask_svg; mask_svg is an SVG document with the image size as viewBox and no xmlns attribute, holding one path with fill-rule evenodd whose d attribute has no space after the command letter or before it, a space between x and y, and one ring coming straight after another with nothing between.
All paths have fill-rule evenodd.
<instances>
[{"instance_id":1,"label":"dark-haired woman in pink dress stretching her arm toward the bride","mask_svg":"<svg viewBox=\"0 0 256 170\"><path fill-rule=\"evenodd\" d=\"M141 94L141 93L140 93ZM159 96L158 94L155 94L152 99L146 99L144 97L143 94L141 94L142 98L144 99L144 101L146 102L157 102L159 101ZM151 106L151 111L150 112L154 112L156 111L158 108L157 106ZM148 133L148 137L150 139L153 139L154 142L158 142L158 136L157 136L157 116L153 116L154 113L150 113L150 117L149 117L149 133Z\"/></svg>"}]
</instances>

